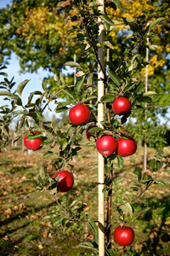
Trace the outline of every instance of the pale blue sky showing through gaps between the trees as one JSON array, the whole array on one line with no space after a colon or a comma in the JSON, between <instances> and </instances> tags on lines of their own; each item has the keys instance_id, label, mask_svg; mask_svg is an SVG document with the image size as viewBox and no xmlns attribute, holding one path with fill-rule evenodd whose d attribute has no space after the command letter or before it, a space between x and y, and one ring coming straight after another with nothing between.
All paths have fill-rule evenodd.
<instances>
[{"instance_id":1,"label":"pale blue sky showing through gaps between the trees","mask_svg":"<svg viewBox=\"0 0 170 256\"><path fill-rule=\"evenodd\" d=\"M10 5L11 3L12 3L12 0L0 0L0 9L5 8L7 6L7 4ZM31 79L31 81L28 84L26 84L26 87L23 90L23 94L22 94L22 101L25 104L27 102L28 96L30 95L30 93L32 91L42 90L42 85L41 85L42 79L44 77L48 77L49 74L51 76L53 75L52 73L42 70L42 68L38 69L38 74L37 73L20 74L19 60L17 59L16 55L14 55L14 54L11 56L11 60L9 61L8 68L5 69L4 72L8 73L8 80L10 80L14 77L14 82L16 83L14 90L16 89L17 85L20 84L20 82L24 81L25 79ZM1 97L0 97L0 104L3 104ZM54 112L55 106L54 106L53 102L50 104L50 108L52 108L52 112L48 111L48 116L51 118L51 116L55 113ZM55 116L57 118L59 118L59 113L55 113ZM170 118L170 111L167 114L167 116ZM163 119L161 116L159 116L159 118L161 119L161 124L166 123L167 119ZM170 121L168 122L167 125L170 126Z\"/></svg>"}]
</instances>

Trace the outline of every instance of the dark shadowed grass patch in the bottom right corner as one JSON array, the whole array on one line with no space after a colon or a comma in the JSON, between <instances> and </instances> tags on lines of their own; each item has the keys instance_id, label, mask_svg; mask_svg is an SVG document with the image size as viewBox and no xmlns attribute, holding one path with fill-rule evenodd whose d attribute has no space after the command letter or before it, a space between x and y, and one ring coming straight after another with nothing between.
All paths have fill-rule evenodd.
<instances>
[{"instance_id":1,"label":"dark shadowed grass patch in the bottom right corner","mask_svg":"<svg viewBox=\"0 0 170 256\"><path fill-rule=\"evenodd\" d=\"M138 203L133 205L138 206ZM140 204L140 207L144 209L146 206ZM170 224L166 224L167 218L169 218L170 212L170 198L169 195L163 196L161 199L152 196L147 199L147 207L150 207L148 212L144 213L144 216L139 218L144 224L144 232L150 230L149 238L143 242L141 248L142 255L157 255L163 256L169 255L169 251L164 251L166 243L170 242ZM161 223L160 223L161 220Z\"/></svg>"}]
</instances>

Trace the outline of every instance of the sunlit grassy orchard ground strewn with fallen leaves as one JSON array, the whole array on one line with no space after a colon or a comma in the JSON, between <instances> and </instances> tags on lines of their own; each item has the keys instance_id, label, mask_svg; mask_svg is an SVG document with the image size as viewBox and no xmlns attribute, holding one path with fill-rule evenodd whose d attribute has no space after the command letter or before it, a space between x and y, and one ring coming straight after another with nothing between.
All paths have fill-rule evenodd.
<instances>
[{"instance_id":1,"label":"sunlit grassy orchard ground strewn with fallen leaves","mask_svg":"<svg viewBox=\"0 0 170 256\"><path fill-rule=\"evenodd\" d=\"M57 152L57 148L54 151ZM170 148L165 148L164 151L170 155ZM28 154L25 148L22 153L16 147L0 153L0 255L93 255L92 251L79 247L82 241L92 241L94 237L88 224L83 229L72 226L71 230L65 231L56 227L54 223L57 219L51 215L55 212L56 203L50 195L46 191L37 192L31 184L21 184L26 179L36 177L41 166L47 166L49 175L53 176L55 171L51 160L42 159L44 152L45 149L42 148ZM148 159L155 153L155 149L149 148ZM115 188L116 201L122 202L123 198L128 198L126 188L135 178L134 168L142 166L142 154L143 148L138 149L136 154L124 159L122 170L116 169L116 177L125 177ZM89 212L89 217L94 220L97 220L98 205L96 161L97 150L82 149L72 162L75 165L75 184L69 192L71 201L78 197L87 203L84 211ZM169 172L163 172L159 178L167 183L168 188L169 176ZM113 241L115 255L170 255L169 189L152 185L146 191L145 198L144 203L137 200L133 205L135 211L144 207L150 207L150 210L128 224L135 234L132 246L123 248ZM112 215L114 214L113 211ZM117 225L112 227L112 233Z\"/></svg>"}]
</instances>

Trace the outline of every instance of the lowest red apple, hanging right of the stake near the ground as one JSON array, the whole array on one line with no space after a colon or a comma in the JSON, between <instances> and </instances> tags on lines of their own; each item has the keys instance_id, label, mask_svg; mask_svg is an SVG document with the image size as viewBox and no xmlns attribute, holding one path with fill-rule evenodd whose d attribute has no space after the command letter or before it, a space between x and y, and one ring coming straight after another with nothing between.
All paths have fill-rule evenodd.
<instances>
[{"instance_id":1,"label":"lowest red apple, hanging right of the stake near the ground","mask_svg":"<svg viewBox=\"0 0 170 256\"><path fill-rule=\"evenodd\" d=\"M124 247L131 245L134 240L134 232L133 229L126 226L118 226L113 233L114 240L117 244L122 245Z\"/></svg>"}]
</instances>

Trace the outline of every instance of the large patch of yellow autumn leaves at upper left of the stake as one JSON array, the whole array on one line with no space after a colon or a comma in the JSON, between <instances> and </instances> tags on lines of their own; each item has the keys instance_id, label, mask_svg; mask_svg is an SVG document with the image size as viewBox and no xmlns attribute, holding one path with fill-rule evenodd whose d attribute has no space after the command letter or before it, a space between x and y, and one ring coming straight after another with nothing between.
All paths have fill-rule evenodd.
<instances>
[{"instance_id":1,"label":"large patch of yellow autumn leaves at upper left of the stake","mask_svg":"<svg viewBox=\"0 0 170 256\"><path fill-rule=\"evenodd\" d=\"M71 10L70 15L76 15L76 10ZM65 20L65 15L58 13L57 8L53 11L48 7L26 9L26 18L23 24L17 29L21 37L41 39L48 36L48 40L56 38L60 44L68 44L68 29L74 22Z\"/></svg>"}]
</instances>

